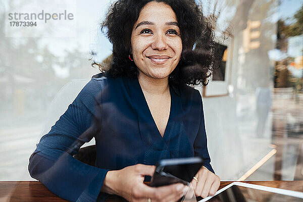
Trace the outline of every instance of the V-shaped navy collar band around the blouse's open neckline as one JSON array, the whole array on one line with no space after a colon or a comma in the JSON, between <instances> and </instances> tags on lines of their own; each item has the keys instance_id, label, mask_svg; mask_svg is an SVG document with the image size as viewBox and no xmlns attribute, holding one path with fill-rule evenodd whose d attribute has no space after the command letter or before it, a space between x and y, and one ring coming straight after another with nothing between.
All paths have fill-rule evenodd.
<instances>
[{"instance_id":1,"label":"V-shaped navy collar band around the blouse's open neckline","mask_svg":"<svg viewBox=\"0 0 303 202\"><path fill-rule=\"evenodd\" d=\"M168 122L163 134L163 137L156 125L156 122L148 108L145 96L138 81L138 78L125 78L130 93L130 98L133 103L133 108L138 118L139 132L141 140L144 144L153 146L155 149L168 149L169 139L172 136L172 128L176 124L174 120L181 107L181 97L176 94L172 86L169 86L171 94L171 107ZM182 110L183 111L183 110ZM183 114L183 113L181 113ZM181 121L183 121L181 119ZM177 124L179 126L180 124ZM175 128L174 128L175 129Z\"/></svg>"}]
</instances>

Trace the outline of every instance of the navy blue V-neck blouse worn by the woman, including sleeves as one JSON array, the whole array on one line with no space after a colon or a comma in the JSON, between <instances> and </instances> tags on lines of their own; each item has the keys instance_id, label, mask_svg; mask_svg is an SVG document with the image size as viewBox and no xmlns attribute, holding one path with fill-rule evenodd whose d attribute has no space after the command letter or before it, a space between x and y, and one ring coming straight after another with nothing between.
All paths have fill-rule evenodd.
<instances>
[{"instance_id":1,"label":"navy blue V-neck blouse worn by the woman, including sleeves","mask_svg":"<svg viewBox=\"0 0 303 202\"><path fill-rule=\"evenodd\" d=\"M170 85L171 109L163 137L138 79L92 78L30 158L30 175L70 201L104 201L109 170L160 159L199 156L210 165L203 105L198 90ZM95 167L73 155L95 137Z\"/></svg>"}]
</instances>

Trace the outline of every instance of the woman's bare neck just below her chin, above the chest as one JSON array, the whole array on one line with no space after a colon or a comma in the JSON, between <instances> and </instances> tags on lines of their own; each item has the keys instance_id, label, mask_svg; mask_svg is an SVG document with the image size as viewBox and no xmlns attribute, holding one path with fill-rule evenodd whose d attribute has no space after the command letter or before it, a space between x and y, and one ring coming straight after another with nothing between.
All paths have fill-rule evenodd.
<instances>
[{"instance_id":1,"label":"woman's bare neck just below her chin, above the chest","mask_svg":"<svg viewBox=\"0 0 303 202\"><path fill-rule=\"evenodd\" d=\"M139 72L138 81L143 92L154 95L163 95L169 91L168 77L163 79L150 78Z\"/></svg>"}]
</instances>

